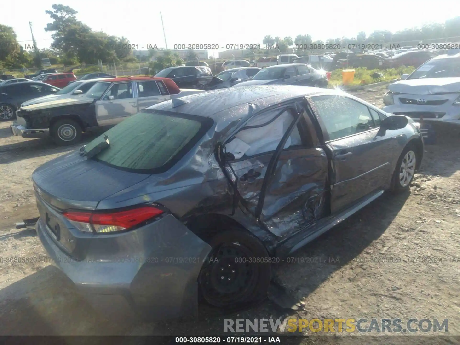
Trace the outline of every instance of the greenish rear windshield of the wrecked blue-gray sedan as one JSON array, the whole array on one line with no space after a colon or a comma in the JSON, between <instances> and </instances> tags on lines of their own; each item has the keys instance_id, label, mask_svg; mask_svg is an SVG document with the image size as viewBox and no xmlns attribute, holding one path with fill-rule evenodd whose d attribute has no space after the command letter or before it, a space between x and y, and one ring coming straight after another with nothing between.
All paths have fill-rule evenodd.
<instances>
[{"instance_id":1,"label":"greenish rear windshield of the wrecked blue-gray sedan","mask_svg":"<svg viewBox=\"0 0 460 345\"><path fill-rule=\"evenodd\" d=\"M162 173L176 164L212 123L202 116L144 109L94 139L85 150L107 135L109 147L95 155L95 160L136 173Z\"/></svg>"}]
</instances>

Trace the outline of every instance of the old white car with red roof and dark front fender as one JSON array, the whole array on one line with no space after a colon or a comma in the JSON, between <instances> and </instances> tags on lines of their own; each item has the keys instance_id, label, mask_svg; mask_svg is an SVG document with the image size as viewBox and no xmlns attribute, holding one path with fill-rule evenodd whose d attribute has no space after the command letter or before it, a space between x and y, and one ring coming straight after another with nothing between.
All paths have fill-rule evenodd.
<instances>
[{"instance_id":1,"label":"old white car with red roof and dark front fender","mask_svg":"<svg viewBox=\"0 0 460 345\"><path fill-rule=\"evenodd\" d=\"M83 97L32 104L17 110L11 125L23 138L51 136L59 146L73 145L81 133L112 126L150 105L194 93L159 77L123 77L98 81Z\"/></svg>"}]
</instances>

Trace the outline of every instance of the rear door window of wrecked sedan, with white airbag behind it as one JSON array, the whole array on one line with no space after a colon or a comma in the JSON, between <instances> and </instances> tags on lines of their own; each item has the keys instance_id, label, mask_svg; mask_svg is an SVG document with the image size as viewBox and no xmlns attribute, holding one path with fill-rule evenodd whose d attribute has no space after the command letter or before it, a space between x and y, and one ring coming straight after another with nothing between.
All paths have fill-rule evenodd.
<instances>
[{"instance_id":1,"label":"rear door window of wrecked sedan, with white airbag behind it","mask_svg":"<svg viewBox=\"0 0 460 345\"><path fill-rule=\"evenodd\" d=\"M287 110L278 117L278 111L270 111L250 120L235 137L225 145L227 152L235 155L235 159L243 156L251 157L276 150L282 137L288 130L294 116ZM247 128L257 126L256 128ZM261 126L261 127L259 127ZM245 129L247 128L247 129ZM295 127L289 136L284 149L302 145L299 129Z\"/></svg>"}]
</instances>

